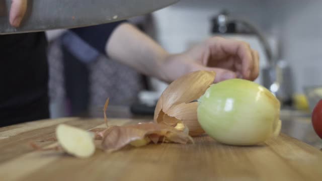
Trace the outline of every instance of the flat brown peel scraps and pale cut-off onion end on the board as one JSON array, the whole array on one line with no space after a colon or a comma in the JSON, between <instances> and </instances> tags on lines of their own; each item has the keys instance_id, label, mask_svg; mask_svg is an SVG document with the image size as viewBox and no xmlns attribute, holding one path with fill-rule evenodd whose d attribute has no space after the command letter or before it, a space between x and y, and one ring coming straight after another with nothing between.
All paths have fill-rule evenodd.
<instances>
[{"instance_id":1,"label":"flat brown peel scraps and pale cut-off onion end on the board","mask_svg":"<svg viewBox=\"0 0 322 181\"><path fill-rule=\"evenodd\" d=\"M104 120L108 126L106 109L109 99L104 106ZM126 145L135 147L144 146L150 142L193 143L188 135L188 128L178 122L175 129L172 126L157 123L139 123L126 126L109 126L108 128L95 128L90 131L60 124L56 128L56 138L59 148L76 157L89 157L94 154L96 147L107 151L115 151ZM94 135L93 135L94 133ZM99 143L99 144L97 144ZM36 150L56 150L57 148L43 149L31 143Z\"/></svg>"}]
</instances>

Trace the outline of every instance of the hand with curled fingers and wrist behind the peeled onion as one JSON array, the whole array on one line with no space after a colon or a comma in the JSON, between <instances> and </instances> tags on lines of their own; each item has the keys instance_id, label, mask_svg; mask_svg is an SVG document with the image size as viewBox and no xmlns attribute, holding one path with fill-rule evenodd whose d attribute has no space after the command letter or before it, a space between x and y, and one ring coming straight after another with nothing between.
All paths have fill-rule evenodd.
<instances>
[{"instance_id":1,"label":"hand with curled fingers and wrist behind the peeled onion","mask_svg":"<svg viewBox=\"0 0 322 181\"><path fill-rule=\"evenodd\" d=\"M259 55L246 42L212 37L184 53L168 56L162 69L163 79L168 82L196 70L215 71L215 82L230 78L255 80Z\"/></svg>"}]
</instances>

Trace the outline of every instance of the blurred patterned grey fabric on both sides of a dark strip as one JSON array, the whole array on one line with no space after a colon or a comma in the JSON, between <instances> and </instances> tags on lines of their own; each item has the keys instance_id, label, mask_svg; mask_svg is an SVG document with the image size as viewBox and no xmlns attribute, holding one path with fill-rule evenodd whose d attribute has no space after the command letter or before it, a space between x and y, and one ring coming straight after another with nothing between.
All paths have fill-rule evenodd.
<instances>
[{"instance_id":1,"label":"blurred patterned grey fabric on both sides of a dark strip","mask_svg":"<svg viewBox=\"0 0 322 181\"><path fill-rule=\"evenodd\" d=\"M58 38L50 43L48 49L49 97L50 104L56 105L52 109L55 117L68 116L62 57L61 40ZM110 105L129 106L144 87L138 72L104 55L99 55L87 65L90 69L90 110L101 109L107 98L110 98Z\"/></svg>"}]
</instances>

